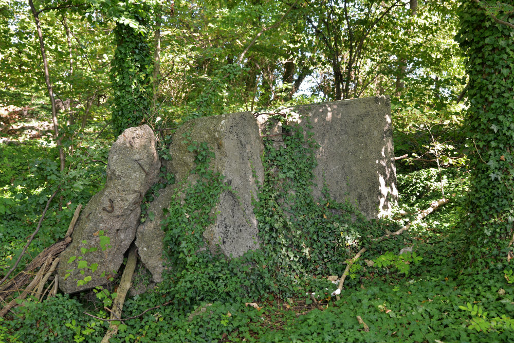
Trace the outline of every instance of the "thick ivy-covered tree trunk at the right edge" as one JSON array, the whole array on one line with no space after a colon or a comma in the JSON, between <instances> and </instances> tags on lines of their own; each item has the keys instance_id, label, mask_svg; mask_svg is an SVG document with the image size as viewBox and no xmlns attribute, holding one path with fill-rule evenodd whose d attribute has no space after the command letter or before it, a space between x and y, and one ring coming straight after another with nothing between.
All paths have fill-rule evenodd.
<instances>
[{"instance_id":1,"label":"thick ivy-covered tree trunk at the right edge","mask_svg":"<svg viewBox=\"0 0 514 343\"><path fill-rule=\"evenodd\" d=\"M457 35L469 74L467 229L476 259L510 259L514 228L514 13L494 5L465 0Z\"/></svg>"}]
</instances>

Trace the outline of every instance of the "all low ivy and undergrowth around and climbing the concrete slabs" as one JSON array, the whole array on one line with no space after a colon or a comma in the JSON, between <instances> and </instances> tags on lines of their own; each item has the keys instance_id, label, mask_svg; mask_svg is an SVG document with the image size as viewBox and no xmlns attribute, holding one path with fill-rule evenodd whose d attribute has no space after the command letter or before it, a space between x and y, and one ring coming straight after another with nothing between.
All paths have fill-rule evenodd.
<instances>
[{"instance_id":1,"label":"all low ivy and undergrowth around and climbing the concrete slabs","mask_svg":"<svg viewBox=\"0 0 514 343\"><path fill-rule=\"evenodd\" d=\"M208 250L198 252L201 231L195 228L212 220L213 204L208 200L230 187L209 170L208 147L191 142L199 182L183 185L188 207L179 199L172 202L163 223L169 273L152 292L128 298L123 317L169 304L124 320L112 342L511 340L512 268L462 260L468 250L459 224L465 215L464 168L443 169L449 204L400 236L377 243L373 237L397 230L443 196L438 171L399 172L401 198L393 218L366 221L328 194L311 198L314 143L305 142L294 125L284 129L285 149L266 144L266 179L255 199L261 249L232 260ZM27 260L63 236L77 204L85 203L103 183L105 168L92 161L105 160L108 145L93 137L84 133L74 138L77 149L66 176L55 172L56 151L45 140L2 146L0 160L9 166L0 174L5 185L0 197L3 272L34 229L49 194L60 187L62 197L47 215ZM341 276L345 260L363 246L369 251L352 267L341 300L336 301L331 294L337 286L327 277ZM408 246L422 258L408 268L401 261L370 266L371 260L397 257ZM42 303L29 299L8 320L0 319L0 341L100 341L108 323L85 312L108 318L104 305L112 303L113 295L101 294L107 296L91 292L58 294ZM363 330L357 316L369 331Z\"/></svg>"}]
</instances>

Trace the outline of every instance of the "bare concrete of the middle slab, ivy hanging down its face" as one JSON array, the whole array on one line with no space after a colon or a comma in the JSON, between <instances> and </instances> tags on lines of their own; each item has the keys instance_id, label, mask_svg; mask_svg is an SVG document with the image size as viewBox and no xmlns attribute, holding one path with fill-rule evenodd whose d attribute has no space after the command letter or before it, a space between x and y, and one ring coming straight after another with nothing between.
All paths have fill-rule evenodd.
<instances>
[{"instance_id":1,"label":"bare concrete of the middle slab, ivy hanging down its face","mask_svg":"<svg viewBox=\"0 0 514 343\"><path fill-rule=\"evenodd\" d=\"M189 134L189 141L182 136ZM163 209L169 206L174 194L183 191L180 184L196 182L195 154L188 150L191 142L206 142L215 158L210 167L224 176L224 182L232 191L223 192L212 209L214 224L204 228L204 238L211 251L219 249L226 255L238 257L250 249L259 248L258 228L253 214L252 196L256 198L259 183L263 183L264 169L261 162L263 151L258 125L250 112L198 118L183 124L174 134L170 145L171 161L167 170L175 175L176 183L159 191L159 196L148 209L153 220L147 219L137 229L136 245L141 262L152 273L154 281L162 280L161 220Z\"/></svg>"}]
</instances>

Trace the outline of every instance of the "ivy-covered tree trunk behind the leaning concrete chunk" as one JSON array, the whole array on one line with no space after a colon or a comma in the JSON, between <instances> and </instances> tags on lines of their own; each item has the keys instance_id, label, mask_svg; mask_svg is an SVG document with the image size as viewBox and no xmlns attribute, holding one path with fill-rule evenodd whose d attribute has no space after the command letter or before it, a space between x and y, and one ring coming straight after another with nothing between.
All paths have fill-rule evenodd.
<instances>
[{"instance_id":1,"label":"ivy-covered tree trunk behind the leaning concrete chunk","mask_svg":"<svg viewBox=\"0 0 514 343\"><path fill-rule=\"evenodd\" d=\"M136 16L141 27L148 22ZM114 91L113 128L116 134L140 125L150 115L152 104L152 56L149 40L129 25L117 23L116 52L111 63Z\"/></svg>"}]
</instances>

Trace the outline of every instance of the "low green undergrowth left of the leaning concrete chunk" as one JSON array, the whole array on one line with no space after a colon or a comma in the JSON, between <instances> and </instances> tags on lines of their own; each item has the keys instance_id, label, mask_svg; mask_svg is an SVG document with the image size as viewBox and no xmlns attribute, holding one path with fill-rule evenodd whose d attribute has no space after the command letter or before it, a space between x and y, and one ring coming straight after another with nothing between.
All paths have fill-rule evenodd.
<instances>
[{"instance_id":1,"label":"low green undergrowth left of the leaning concrete chunk","mask_svg":"<svg viewBox=\"0 0 514 343\"><path fill-rule=\"evenodd\" d=\"M69 170L62 174L50 139L0 147L0 159L8 167L3 168L3 163L0 173L5 177L0 188L1 268L14 263L21 253L25 238L34 231L54 191L58 194L43 221L40 239L29 247L32 256L64 236L78 204L87 203L105 182L105 165L98 161L106 160L108 147L80 135L73 148L74 154L68 157ZM30 255L25 256L22 265Z\"/></svg>"}]
</instances>

